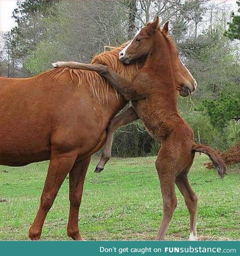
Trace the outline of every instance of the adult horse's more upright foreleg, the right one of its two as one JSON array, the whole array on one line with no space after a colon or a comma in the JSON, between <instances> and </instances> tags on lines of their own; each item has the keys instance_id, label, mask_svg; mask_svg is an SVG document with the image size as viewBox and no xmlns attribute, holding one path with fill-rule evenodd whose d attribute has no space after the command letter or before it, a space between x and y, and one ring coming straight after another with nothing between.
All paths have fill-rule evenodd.
<instances>
[{"instance_id":1,"label":"adult horse's more upright foreleg, the right one of its two","mask_svg":"<svg viewBox=\"0 0 240 256\"><path fill-rule=\"evenodd\" d=\"M81 203L83 183L90 162L90 157L76 162L69 172L69 218L67 224L67 235L73 240L84 240L78 229L78 213Z\"/></svg>"}]
</instances>

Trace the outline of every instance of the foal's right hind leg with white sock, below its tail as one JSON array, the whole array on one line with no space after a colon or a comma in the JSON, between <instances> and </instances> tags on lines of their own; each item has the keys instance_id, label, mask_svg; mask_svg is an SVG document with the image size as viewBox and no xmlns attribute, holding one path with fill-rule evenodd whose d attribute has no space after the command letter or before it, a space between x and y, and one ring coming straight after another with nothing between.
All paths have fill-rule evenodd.
<instances>
[{"instance_id":1,"label":"foal's right hind leg with white sock, below its tail","mask_svg":"<svg viewBox=\"0 0 240 256\"><path fill-rule=\"evenodd\" d=\"M187 172L189 168L185 170L183 173L180 173L175 180L175 183L182 193L186 207L190 214L190 240L197 240L196 235L196 211L197 211L197 196L192 190L188 179Z\"/></svg>"}]
</instances>

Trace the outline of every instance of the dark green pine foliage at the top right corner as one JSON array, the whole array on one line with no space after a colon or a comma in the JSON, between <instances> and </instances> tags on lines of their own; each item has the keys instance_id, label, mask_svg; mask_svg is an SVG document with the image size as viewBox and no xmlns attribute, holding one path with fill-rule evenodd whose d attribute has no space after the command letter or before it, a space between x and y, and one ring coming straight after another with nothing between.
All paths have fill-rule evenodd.
<instances>
[{"instance_id":1,"label":"dark green pine foliage at the top right corner","mask_svg":"<svg viewBox=\"0 0 240 256\"><path fill-rule=\"evenodd\" d=\"M224 35L228 37L231 40L238 39L240 40L240 1L236 1L239 9L238 9L238 15L235 15L234 13L231 14L231 22L228 22L228 30L225 31Z\"/></svg>"}]
</instances>

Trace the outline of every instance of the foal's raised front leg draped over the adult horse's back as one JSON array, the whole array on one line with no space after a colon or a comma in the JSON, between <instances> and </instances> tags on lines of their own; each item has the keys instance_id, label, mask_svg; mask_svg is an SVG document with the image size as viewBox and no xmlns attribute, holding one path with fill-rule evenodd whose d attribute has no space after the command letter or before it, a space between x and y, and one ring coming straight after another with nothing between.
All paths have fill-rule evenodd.
<instances>
[{"instance_id":1,"label":"foal's raised front leg draped over the adult horse's back","mask_svg":"<svg viewBox=\"0 0 240 256\"><path fill-rule=\"evenodd\" d=\"M84 69L97 72L101 77L108 80L126 100L140 100L146 97L145 88L141 88L141 84L132 82L121 77L108 66L101 64L83 64L79 62L56 62L52 63L54 68L68 67L72 69Z\"/></svg>"}]
</instances>

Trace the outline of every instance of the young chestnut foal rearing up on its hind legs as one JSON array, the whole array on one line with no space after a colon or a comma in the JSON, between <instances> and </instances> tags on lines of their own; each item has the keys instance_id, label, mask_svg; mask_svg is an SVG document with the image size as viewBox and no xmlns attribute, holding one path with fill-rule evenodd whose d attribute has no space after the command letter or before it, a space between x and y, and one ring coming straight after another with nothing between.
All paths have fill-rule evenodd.
<instances>
[{"instance_id":1,"label":"young chestnut foal rearing up on its hind legs","mask_svg":"<svg viewBox=\"0 0 240 256\"><path fill-rule=\"evenodd\" d=\"M121 94L131 100L134 111L143 121L149 134L161 144L155 166L160 181L163 201L163 216L157 240L165 237L169 222L176 207L174 183L184 196L190 214L190 239L196 240L197 196L190 187L187 173L195 152L207 154L223 176L225 165L211 148L194 143L191 127L180 117L172 70L173 58L178 58L177 49L168 36L168 24L160 31L158 18L148 23L119 53L120 60L129 64L146 57L143 68L132 81L122 78L104 65L87 65L59 62L54 66L81 68L96 71ZM136 115L129 113L132 117ZM118 118L118 117L116 117Z\"/></svg>"}]
</instances>

